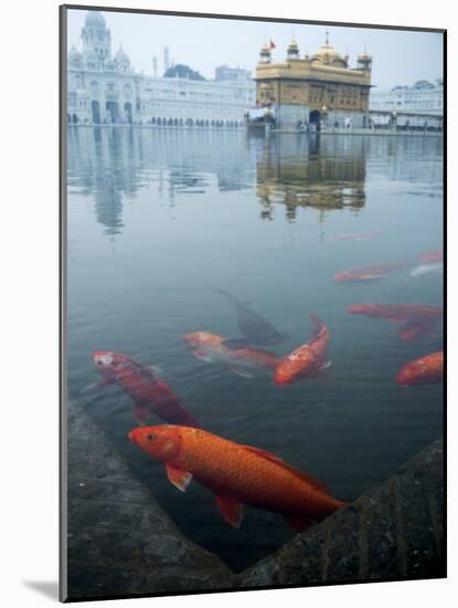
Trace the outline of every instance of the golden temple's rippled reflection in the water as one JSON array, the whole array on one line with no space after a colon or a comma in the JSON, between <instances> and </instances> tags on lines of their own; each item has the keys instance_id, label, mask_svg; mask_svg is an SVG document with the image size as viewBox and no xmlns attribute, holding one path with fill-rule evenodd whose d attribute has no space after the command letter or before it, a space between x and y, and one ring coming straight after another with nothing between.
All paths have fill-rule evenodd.
<instances>
[{"instance_id":1,"label":"golden temple's rippled reflection in the water","mask_svg":"<svg viewBox=\"0 0 458 608\"><path fill-rule=\"evenodd\" d=\"M263 219L271 219L274 205L286 208L288 220L297 209L352 209L365 203L365 143L363 139L319 135L277 135L251 139L256 148L256 192Z\"/></svg>"}]
</instances>

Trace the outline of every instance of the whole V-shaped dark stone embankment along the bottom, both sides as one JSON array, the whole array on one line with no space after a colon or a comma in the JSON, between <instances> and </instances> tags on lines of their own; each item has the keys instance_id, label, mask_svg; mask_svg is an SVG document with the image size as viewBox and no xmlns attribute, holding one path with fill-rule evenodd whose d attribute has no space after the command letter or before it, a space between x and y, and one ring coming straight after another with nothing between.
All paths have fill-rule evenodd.
<instances>
[{"instance_id":1,"label":"whole V-shaped dark stone embankment along the bottom, both sides","mask_svg":"<svg viewBox=\"0 0 458 608\"><path fill-rule=\"evenodd\" d=\"M67 599L445 576L441 441L235 575L181 534L75 403L68 438Z\"/></svg>"}]
</instances>

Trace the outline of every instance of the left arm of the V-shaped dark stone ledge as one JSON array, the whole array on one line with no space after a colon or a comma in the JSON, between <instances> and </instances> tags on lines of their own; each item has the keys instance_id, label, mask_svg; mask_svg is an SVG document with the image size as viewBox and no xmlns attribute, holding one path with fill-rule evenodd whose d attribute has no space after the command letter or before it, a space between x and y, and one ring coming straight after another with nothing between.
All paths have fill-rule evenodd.
<instances>
[{"instance_id":1,"label":"left arm of the V-shaped dark stone ledge","mask_svg":"<svg viewBox=\"0 0 458 608\"><path fill-rule=\"evenodd\" d=\"M89 419L68 406L67 600L225 589L233 574L189 541Z\"/></svg>"}]
</instances>

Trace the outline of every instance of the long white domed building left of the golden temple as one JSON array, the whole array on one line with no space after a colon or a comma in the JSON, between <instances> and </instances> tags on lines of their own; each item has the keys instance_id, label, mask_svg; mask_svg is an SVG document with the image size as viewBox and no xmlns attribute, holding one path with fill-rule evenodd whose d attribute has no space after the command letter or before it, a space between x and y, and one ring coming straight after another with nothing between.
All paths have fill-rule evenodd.
<instances>
[{"instance_id":1,"label":"long white domed building left of the golden temple","mask_svg":"<svg viewBox=\"0 0 458 608\"><path fill-rule=\"evenodd\" d=\"M88 11L81 39L82 49L72 46L67 56L71 124L243 127L244 113L255 103L249 73L193 81L135 72L123 46L111 55L111 34L98 11Z\"/></svg>"}]
</instances>

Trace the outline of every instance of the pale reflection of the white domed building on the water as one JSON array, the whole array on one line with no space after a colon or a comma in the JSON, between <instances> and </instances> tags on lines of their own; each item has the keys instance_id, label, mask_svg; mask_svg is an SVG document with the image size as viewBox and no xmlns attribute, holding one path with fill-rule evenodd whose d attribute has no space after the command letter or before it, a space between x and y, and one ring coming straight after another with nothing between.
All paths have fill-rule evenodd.
<instances>
[{"instance_id":1,"label":"pale reflection of the white domed building on the water","mask_svg":"<svg viewBox=\"0 0 458 608\"><path fill-rule=\"evenodd\" d=\"M173 206L180 195L210 187L234 191L253 185L255 165L244 133L70 128L68 191L94 196L106 234L123 230L123 205L156 182Z\"/></svg>"}]
</instances>

